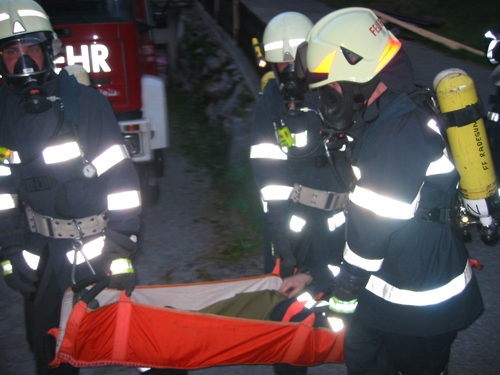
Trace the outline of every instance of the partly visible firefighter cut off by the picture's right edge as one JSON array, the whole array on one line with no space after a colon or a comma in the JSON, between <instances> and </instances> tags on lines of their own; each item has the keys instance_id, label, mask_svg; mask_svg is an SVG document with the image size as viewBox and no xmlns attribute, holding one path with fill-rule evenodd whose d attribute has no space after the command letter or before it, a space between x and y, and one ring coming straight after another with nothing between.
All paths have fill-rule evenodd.
<instances>
[{"instance_id":1,"label":"partly visible firefighter cut off by the picture's right edge","mask_svg":"<svg viewBox=\"0 0 500 375\"><path fill-rule=\"evenodd\" d=\"M484 34L485 53L488 61L497 65L491 74L491 82L498 86L495 95L491 95L489 109L486 118L486 130L488 131L493 164L496 175L500 172L500 28L490 30Z\"/></svg>"}]
</instances>

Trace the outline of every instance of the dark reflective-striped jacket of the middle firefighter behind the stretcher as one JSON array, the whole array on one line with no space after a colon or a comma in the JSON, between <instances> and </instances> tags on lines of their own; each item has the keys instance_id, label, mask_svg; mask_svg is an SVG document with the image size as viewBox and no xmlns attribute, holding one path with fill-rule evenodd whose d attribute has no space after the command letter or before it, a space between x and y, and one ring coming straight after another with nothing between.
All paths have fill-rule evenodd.
<instances>
[{"instance_id":1,"label":"dark reflective-striped jacket of the middle firefighter behind the stretcher","mask_svg":"<svg viewBox=\"0 0 500 375\"><path fill-rule=\"evenodd\" d=\"M317 93L306 95L305 106L317 108ZM295 143L280 148L273 122L289 128ZM319 282L331 277L327 265L338 265L344 247L343 207L325 209L294 202L290 194L297 186L315 191L345 193L352 176L343 153L331 150L336 173L325 155L321 120L314 112L297 117L285 114L283 96L270 80L259 98L251 132L251 163L261 192L270 241L275 256L293 266L307 269ZM342 179L342 181L340 181ZM320 207L321 206L321 207ZM298 225L295 225L298 224ZM301 227L303 225L303 227ZM283 271L282 267L282 271ZM289 271L285 271L289 272ZM287 276L284 274L283 276Z\"/></svg>"}]
</instances>

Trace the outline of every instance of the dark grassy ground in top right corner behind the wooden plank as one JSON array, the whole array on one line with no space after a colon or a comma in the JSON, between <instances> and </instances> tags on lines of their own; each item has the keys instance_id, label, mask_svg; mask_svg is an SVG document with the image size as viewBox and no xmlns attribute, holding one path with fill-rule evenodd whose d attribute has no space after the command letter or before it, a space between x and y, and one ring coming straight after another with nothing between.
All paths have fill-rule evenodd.
<instances>
[{"instance_id":1,"label":"dark grassy ground in top right corner behind the wooden plank","mask_svg":"<svg viewBox=\"0 0 500 375\"><path fill-rule=\"evenodd\" d=\"M334 9L361 6L381 12L393 11L404 15L417 16L430 21L440 21L442 25L417 25L432 33L441 35L466 46L483 51L483 35L486 31L500 26L500 1L456 1L456 0L320 0ZM433 22L431 22L433 23ZM404 35L412 34L399 28ZM451 50L442 44L412 35L419 42L453 54L456 57L489 65L486 58L465 50ZM491 67L491 65L489 65Z\"/></svg>"}]
</instances>

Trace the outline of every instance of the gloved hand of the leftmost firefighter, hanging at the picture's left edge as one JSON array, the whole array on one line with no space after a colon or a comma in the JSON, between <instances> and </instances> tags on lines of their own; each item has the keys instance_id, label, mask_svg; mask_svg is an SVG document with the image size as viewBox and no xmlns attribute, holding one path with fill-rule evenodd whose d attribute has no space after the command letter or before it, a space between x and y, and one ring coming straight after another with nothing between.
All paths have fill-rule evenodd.
<instances>
[{"instance_id":1,"label":"gloved hand of the leftmost firefighter, hanging at the picture's left edge","mask_svg":"<svg viewBox=\"0 0 500 375\"><path fill-rule=\"evenodd\" d=\"M21 293L34 293L38 281L36 272L28 266L19 246L2 249L0 265L2 266L5 283Z\"/></svg>"}]
</instances>

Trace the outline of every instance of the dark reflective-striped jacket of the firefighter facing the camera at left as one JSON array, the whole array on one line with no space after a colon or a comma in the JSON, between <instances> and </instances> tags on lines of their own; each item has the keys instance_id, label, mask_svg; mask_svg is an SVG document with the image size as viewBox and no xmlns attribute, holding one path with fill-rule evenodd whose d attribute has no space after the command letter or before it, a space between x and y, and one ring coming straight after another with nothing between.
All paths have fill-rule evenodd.
<instances>
[{"instance_id":1,"label":"dark reflective-striped jacket of the firefighter facing the camera at left","mask_svg":"<svg viewBox=\"0 0 500 375\"><path fill-rule=\"evenodd\" d=\"M45 84L49 96L60 96L60 79L56 77L52 74L54 79ZM75 87L76 96L65 99L68 101L65 110L76 109L78 121L73 128L64 120L59 130L56 130L61 113L59 100L43 113L30 114L21 105L19 94L5 85L0 88L5 99L1 105L0 146L11 151L10 163L2 165L5 173L0 176L0 194L10 196L15 202L14 207L7 205L0 210L0 246L22 246L41 256L38 272L43 272L44 278L38 286L39 291L44 290L50 274L56 276L61 290L71 285L72 265L67 253L73 248L73 240L58 238L57 233L53 236L46 232L43 235L35 233L32 218L25 212L26 206L45 215L51 222L51 230L55 228L53 224L59 222L57 219L71 222L104 214L107 219L104 248L102 255L91 260L95 271L107 267L114 258L130 256L137 247L141 207L135 167L125 151L109 101L91 87L80 84ZM71 100L77 102L70 104ZM60 147L74 141L81 146L86 160L97 165L98 157L101 162L106 159L107 169L100 167L98 177L92 179L81 177L82 157L64 158L68 154ZM44 151L53 146L56 157L63 156L67 160L48 161ZM110 150L118 150L122 157L111 160ZM16 157L12 158L13 155ZM120 194L128 194L125 205L119 200ZM119 200L117 205L112 203L117 202L116 199ZM85 233L83 243L102 238L102 235L102 232ZM88 275L89 267L79 264L77 280Z\"/></svg>"}]
</instances>

